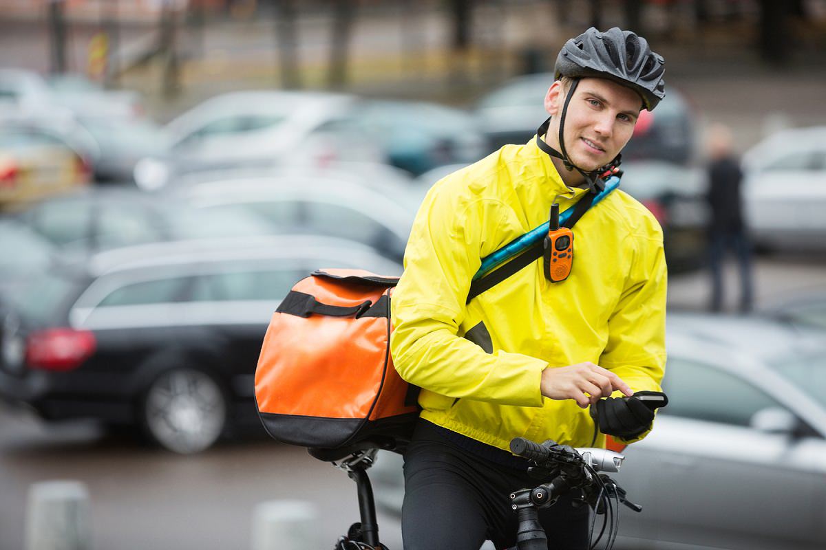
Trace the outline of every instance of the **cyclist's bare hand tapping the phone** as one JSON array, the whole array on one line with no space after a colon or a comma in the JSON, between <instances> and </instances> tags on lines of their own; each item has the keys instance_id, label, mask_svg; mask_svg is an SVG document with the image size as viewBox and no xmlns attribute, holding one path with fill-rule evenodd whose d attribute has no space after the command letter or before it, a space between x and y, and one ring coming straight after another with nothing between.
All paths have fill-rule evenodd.
<instances>
[{"instance_id":1,"label":"cyclist's bare hand tapping the phone","mask_svg":"<svg viewBox=\"0 0 826 550\"><path fill-rule=\"evenodd\" d=\"M634 395L619 376L593 363L548 367L542 371L539 390L550 399L573 399L583 409L601 397L610 397L616 390L627 396Z\"/></svg>"}]
</instances>

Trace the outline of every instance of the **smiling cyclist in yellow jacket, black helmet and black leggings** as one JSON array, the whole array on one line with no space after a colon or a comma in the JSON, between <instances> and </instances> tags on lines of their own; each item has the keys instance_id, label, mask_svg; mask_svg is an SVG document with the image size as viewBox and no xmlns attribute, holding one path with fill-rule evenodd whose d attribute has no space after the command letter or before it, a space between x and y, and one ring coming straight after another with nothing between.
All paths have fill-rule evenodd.
<instances>
[{"instance_id":1,"label":"smiling cyclist in yellow jacket, black helmet and black leggings","mask_svg":"<svg viewBox=\"0 0 826 550\"><path fill-rule=\"evenodd\" d=\"M544 98L539 137L507 145L439 181L425 198L393 294L392 356L420 388L405 454L405 548L477 550L515 543L510 491L528 487L510 440L605 445L637 440L653 420L638 400L665 363L666 265L648 210L614 191L577 222L566 280L543 260L466 303L481 259L601 187L641 109L664 96L662 57L634 33L591 28L568 40ZM535 485L535 482L533 482ZM540 510L553 548L587 548L588 510Z\"/></svg>"}]
</instances>

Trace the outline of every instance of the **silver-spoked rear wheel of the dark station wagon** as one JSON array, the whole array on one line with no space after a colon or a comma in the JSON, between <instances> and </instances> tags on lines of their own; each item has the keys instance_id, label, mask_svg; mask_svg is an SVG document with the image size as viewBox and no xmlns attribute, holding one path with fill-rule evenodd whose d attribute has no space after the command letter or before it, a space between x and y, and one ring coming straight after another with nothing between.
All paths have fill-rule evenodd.
<instances>
[{"instance_id":1,"label":"silver-spoked rear wheel of the dark station wagon","mask_svg":"<svg viewBox=\"0 0 826 550\"><path fill-rule=\"evenodd\" d=\"M181 454L215 443L226 422L226 399L209 374L172 369L160 374L143 399L143 422L150 438Z\"/></svg>"}]
</instances>

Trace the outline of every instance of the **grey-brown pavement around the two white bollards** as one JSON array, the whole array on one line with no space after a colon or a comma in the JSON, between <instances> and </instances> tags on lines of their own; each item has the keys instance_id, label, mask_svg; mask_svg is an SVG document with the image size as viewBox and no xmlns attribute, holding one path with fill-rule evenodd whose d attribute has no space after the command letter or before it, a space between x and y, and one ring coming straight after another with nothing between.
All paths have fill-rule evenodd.
<instances>
[{"instance_id":1,"label":"grey-brown pavement around the two white bollards","mask_svg":"<svg viewBox=\"0 0 826 550\"><path fill-rule=\"evenodd\" d=\"M251 548L254 506L270 500L316 505L324 549L358 521L354 482L304 449L261 437L178 456L0 405L0 550L24 548L28 488L54 479L88 486L93 547L107 550ZM398 519L378 519L382 541L401 548Z\"/></svg>"}]
</instances>

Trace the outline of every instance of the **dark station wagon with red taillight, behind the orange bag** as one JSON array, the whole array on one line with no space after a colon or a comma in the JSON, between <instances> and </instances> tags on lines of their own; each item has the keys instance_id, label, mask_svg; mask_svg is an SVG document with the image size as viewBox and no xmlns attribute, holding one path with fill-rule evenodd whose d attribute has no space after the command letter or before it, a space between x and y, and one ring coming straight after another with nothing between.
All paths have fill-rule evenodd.
<instances>
[{"instance_id":1,"label":"dark station wagon with red taillight, behind the orange bag","mask_svg":"<svg viewBox=\"0 0 826 550\"><path fill-rule=\"evenodd\" d=\"M127 247L46 271L0 319L0 396L47 421L141 425L175 452L207 449L258 425L269 318L320 267L401 273L358 243L300 235Z\"/></svg>"}]
</instances>

